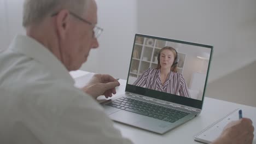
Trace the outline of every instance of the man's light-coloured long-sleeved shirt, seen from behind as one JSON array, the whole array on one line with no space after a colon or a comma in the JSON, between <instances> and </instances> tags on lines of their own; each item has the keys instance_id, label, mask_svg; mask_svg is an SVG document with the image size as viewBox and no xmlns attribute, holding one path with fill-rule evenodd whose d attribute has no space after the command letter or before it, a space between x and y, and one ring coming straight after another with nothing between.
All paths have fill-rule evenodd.
<instances>
[{"instance_id":1,"label":"man's light-coloured long-sleeved shirt, seen from behind","mask_svg":"<svg viewBox=\"0 0 256 144\"><path fill-rule=\"evenodd\" d=\"M18 35L0 53L0 95L1 144L131 143L74 87L59 59L30 37Z\"/></svg>"}]
</instances>

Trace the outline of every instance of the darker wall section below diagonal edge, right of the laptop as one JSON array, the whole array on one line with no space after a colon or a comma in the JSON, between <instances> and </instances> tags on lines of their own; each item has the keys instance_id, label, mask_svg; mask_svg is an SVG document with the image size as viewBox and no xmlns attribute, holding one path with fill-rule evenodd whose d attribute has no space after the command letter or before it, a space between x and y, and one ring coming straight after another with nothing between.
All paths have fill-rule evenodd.
<instances>
[{"instance_id":1,"label":"darker wall section below diagonal edge, right of the laptop","mask_svg":"<svg viewBox=\"0 0 256 144\"><path fill-rule=\"evenodd\" d=\"M256 107L256 61L207 86L207 97Z\"/></svg>"}]
</instances>

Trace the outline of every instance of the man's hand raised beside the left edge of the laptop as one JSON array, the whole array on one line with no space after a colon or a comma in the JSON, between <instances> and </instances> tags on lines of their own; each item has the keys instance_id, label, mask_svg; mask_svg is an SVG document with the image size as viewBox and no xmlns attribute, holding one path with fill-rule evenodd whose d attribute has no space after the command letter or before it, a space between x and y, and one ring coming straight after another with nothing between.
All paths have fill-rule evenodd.
<instances>
[{"instance_id":1,"label":"man's hand raised beside the left edge of the laptop","mask_svg":"<svg viewBox=\"0 0 256 144\"><path fill-rule=\"evenodd\" d=\"M100 95L105 95L108 98L116 93L115 87L119 85L120 83L110 75L95 74L87 85L83 87L83 91L95 99Z\"/></svg>"}]
</instances>

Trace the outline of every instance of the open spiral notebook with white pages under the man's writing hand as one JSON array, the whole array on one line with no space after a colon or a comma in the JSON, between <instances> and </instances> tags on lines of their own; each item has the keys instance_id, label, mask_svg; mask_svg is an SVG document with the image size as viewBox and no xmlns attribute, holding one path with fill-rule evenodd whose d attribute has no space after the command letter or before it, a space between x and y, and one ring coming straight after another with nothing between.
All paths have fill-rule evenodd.
<instances>
[{"instance_id":1,"label":"open spiral notebook with white pages under the man's writing hand","mask_svg":"<svg viewBox=\"0 0 256 144\"><path fill-rule=\"evenodd\" d=\"M219 137L220 134L222 133L226 124L228 124L231 121L237 121L239 119L238 118L238 110L240 110L240 109L236 109L236 110L228 113L228 115L225 115L223 118L220 118L218 121L212 123L205 129L203 129L202 131L197 133L194 136L194 140L203 142L203 143L211 143L212 141L216 140L217 137ZM251 118L253 121L253 125L255 127L256 117L255 117L255 112L254 112L254 114L253 114L253 112L254 111L244 111L243 110L243 117ZM254 135L255 135L255 131L254 131ZM255 136L253 139L253 143L256 144Z\"/></svg>"}]
</instances>

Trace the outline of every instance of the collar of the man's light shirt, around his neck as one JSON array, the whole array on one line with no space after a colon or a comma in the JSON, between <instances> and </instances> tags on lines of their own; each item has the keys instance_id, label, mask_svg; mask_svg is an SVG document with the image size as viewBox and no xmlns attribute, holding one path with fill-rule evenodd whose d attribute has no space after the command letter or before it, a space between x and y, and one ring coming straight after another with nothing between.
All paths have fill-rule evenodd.
<instances>
[{"instance_id":1,"label":"collar of the man's light shirt, around his neck","mask_svg":"<svg viewBox=\"0 0 256 144\"><path fill-rule=\"evenodd\" d=\"M68 70L60 60L35 39L25 35L17 35L9 48L42 63L59 79L74 83Z\"/></svg>"}]
</instances>

